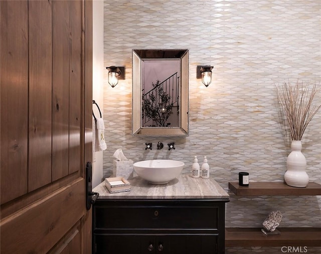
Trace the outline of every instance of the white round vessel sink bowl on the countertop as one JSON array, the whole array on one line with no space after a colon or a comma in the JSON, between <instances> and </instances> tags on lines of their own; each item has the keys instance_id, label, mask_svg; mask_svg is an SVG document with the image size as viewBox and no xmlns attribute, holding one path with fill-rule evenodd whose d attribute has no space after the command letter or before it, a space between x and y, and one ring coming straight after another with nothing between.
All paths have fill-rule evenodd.
<instances>
[{"instance_id":1,"label":"white round vessel sink bowl on the countertop","mask_svg":"<svg viewBox=\"0 0 321 254\"><path fill-rule=\"evenodd\" d=\"M181 174L183 166L184 162L171 159L142 160L133 164L137 175L151 184L167 184Z\"/></svg>"}]
</instances>

